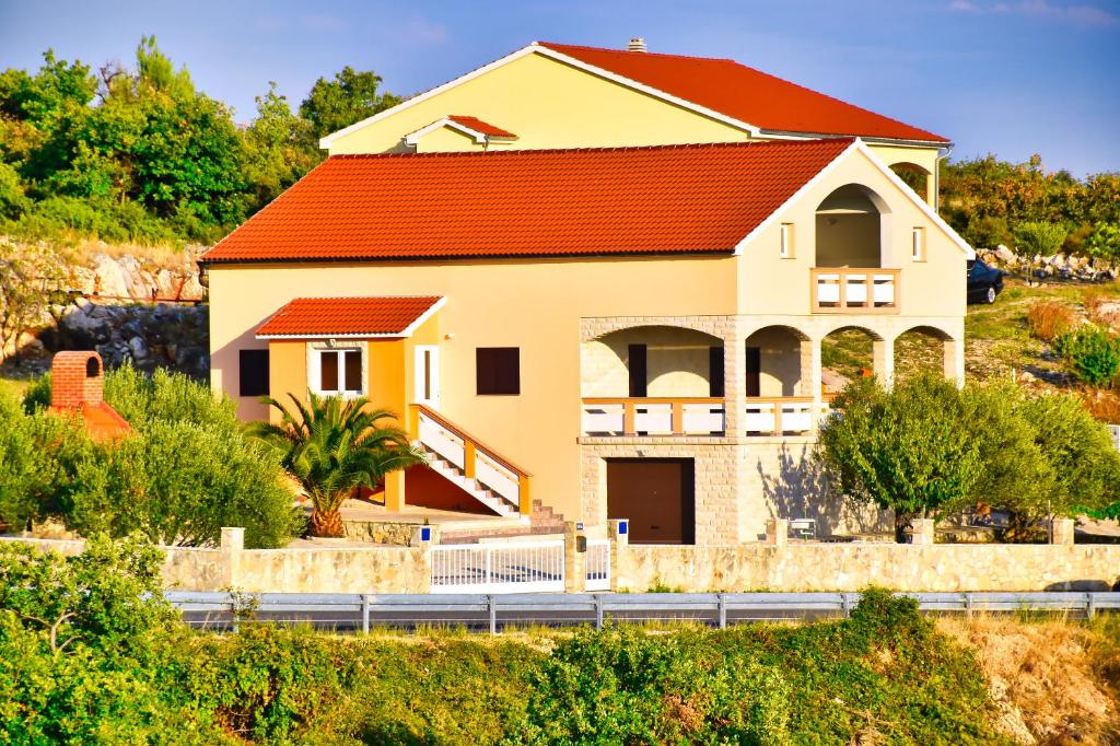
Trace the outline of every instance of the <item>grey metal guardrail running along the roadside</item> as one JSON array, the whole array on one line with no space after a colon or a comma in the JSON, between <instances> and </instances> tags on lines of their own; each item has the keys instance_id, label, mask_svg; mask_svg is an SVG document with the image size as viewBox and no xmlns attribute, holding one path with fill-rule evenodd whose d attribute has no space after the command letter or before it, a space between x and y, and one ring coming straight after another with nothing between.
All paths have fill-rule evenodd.
<instances>
[{"instance_id":1,"label":"grey metal guardrail running along the roadside","mask_svg":"<svg viewBox=\"0 0 1120 746\"><path fill-rule=\"evenodd\" d=\"M1038 612L1092 618L1120 610L1120 593L899 594L932 614ZM607 622L696 622L724 628L752 622L848 616L858 593L806 594L228 594L168 591L185 621L207 630L239 621L306 623L368 632L374 626L463 626L496 633L526 625L601 627Z\"/></svg>"}]
</instances>

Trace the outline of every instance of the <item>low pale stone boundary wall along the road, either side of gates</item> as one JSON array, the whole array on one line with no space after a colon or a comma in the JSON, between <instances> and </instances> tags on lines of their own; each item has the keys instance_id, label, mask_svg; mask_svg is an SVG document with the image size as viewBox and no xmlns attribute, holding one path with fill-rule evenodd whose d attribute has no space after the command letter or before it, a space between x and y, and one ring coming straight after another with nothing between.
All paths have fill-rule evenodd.
<instances>
[{"instance_id":1,"label":"low pale stone boundary wall along the road, either side of gates","mask_svg":"<svg viewBox=\"0 0 1120 746\"><path fill-rule=\"evenodd\" d=\"M589 534L599 533L596 526ZM245 593L422 594L431 552L417 547L240 548L226 529L216 549L165 548L168 589ZM567 588L584 590L579 531L566 528ZM612 588L644 591L858 591L875 585L900 591L1109 590L1120 581L1116 544L775 543L697 547L629 545L612 539ZM80 553L84 542L19 540L43 550Z\"/></svg>"}]
</instances>

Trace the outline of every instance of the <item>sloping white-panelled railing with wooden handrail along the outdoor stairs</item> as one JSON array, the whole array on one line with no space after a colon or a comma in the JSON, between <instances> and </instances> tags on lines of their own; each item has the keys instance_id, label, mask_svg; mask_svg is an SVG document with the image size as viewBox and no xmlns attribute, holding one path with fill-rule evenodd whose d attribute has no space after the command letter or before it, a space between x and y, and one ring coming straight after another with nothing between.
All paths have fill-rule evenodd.
<instances>
[{"instance_id":1,"label":"sloping white-panelled railing with wooden handrail along the outdoor stairs","mask_svg":"<svg viewBox=\"0 0 1120 746\"><path fill-rule=\"evenodd\" d=\"M423 404L411 405L411 422L416 438L429 450L439 455L463 472L468 479L476 479L494 493L517 506L522 515L532 510L530 482L532 475L478 438Z\"/></svg>"}]
</instances>

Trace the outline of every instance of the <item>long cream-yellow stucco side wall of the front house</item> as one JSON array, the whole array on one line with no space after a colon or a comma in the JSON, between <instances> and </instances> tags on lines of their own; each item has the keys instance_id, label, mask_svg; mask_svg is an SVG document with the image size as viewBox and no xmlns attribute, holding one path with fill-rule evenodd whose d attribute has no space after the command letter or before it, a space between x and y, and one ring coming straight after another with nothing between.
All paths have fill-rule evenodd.
<instances>
[{"instance_id":1,"label":"long cream-yellow stucco side wall of the front house","mask_svg":"<svg viewBox=\"0 0 1120 746\"><path fill-rule=\"evenodd\" d=\"M533 494L576 515L579 507L580 339L582 316L672 310L735 313L735 259L625 259L529 262L424 262L214 265L209 273L211 370L236 393L237 351L260 347L254 329L292 298L439 295L441 410L452 422L533 473ZM662 300L659 300L661 298ZM446 335L452 335L447 339ZM420 335L418 335L419 338ZM382 343L371 343L371 347ZM475 393L475 348L521 348L521 395ZM413 381L405 355L407 386ZM281 367L273 363L273 370ZM376 372L371 365L371 379ZM290 385L287 379L277 379ZM381 403L376 400L374 403ZM246 419L265 417L239 400Z\"/></svg>"}]
</instances>

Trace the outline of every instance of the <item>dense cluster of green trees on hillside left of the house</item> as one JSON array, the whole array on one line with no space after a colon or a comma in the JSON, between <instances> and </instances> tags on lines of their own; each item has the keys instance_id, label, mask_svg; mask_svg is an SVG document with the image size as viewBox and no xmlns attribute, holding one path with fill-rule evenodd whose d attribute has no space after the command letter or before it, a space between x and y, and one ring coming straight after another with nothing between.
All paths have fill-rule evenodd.
<instances>
[{"instance_id":1,"label":"dense cluster of green trees on hillside left of the house","mask_svg":"<svg viewBox=\"0 0 1120 746\"><path fill-rule=\"evenodd\" d=\"M239 128L155 37L96 71L48 50L0 72L0 233L214 241L321 160L319 134L395 104L380 83L346 67L300 113L270 85Z\"/></svg>"}]
</instances>

